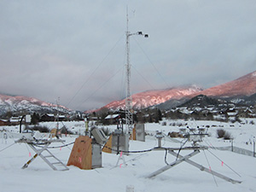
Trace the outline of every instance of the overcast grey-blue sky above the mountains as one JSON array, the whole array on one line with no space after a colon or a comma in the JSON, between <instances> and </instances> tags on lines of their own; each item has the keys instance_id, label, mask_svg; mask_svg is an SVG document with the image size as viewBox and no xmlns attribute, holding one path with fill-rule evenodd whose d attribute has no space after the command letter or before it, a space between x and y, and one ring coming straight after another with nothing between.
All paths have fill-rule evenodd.
<instances>
[{"instance_id":1,"label":"overcast grey-blue sky above the mountains","mask_svg":"<svg viewBox=\"0 0 256 192\"><path fill-rule=\"evenodd\" d=\"M223 84L256 70L255 0L1 0L0 93L72 109L131 93Z\"/></svg>"}]
</instances>

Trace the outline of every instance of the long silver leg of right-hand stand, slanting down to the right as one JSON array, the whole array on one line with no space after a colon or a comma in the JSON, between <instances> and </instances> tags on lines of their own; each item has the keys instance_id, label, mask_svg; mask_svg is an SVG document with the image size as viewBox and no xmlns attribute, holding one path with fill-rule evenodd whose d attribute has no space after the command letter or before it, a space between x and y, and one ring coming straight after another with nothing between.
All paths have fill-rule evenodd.
<instances>
[{"instance_id":1,"label":"long silver leg of right-hand stand, slanting down to the right","mask_svg":"<svg viewBox=\"0 0 256 192\"><path fill-rule=\"evenodd\" d=\"M178 155L178 158L183 158L182 155L177 154L177 153L175 153L174 151L171 151L171 150L169 151L169 154L172 154L172 155L174 155L174 156L177 156L177 155ZM195 162L192 161L192 160L187 159L187 160L184 160L184 161L186 161L187 163L189 163L191 166L195 166L196 168L200 169L201 171L208 172L208 173L210 173L210 174L212 174L212 175L214 175L214 176L216 176L216 177L222 178L222 179L224 179L224 180L226 180L226 181L228 181L228 182L231 182L231 183L241 183L241 181L234 180L234 179L232 179L232 178L230 178L230 177L226 177L226 176L224 176L224 175L222 175L222 174L220 174L220 173L218 173L218 172L214 172L214 171L212 171L212 170L210 170L210 169L207 169L207 167L201 166L201 165L199 165L198 163L195 163Z\"/></svg>"}]
</instances>

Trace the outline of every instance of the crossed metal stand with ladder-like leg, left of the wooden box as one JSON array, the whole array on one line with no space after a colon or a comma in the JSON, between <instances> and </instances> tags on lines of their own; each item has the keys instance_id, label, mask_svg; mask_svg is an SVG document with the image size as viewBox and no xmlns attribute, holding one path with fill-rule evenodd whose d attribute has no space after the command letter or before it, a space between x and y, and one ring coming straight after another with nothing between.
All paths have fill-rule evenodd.
<instances>
[{"instance_id":1,"label":"crossed metal stand with ladder-like leg, left of the wooden box","mask_svg":"<svg viewBox=\"0 0 256 192\"><path fill-rule=\"evenodd\" d=\"M45 163L47 163L53 170L55 171L67 171L69 170L68 167L61 162L58 158L55 157L54 154L52 154L48 147L51 143L63 143L64 140L56 139L56 140L32 140L32 139L20 139L16 141L15 143L26 143L36 154L33 155L32 159L28 160L24 166L22 166L22 169L27 168L30 163L35 160L38 156L44 160ZM38 145L44 145L42 148L36 148L35 146ZM46 154L42 154L43 152L47 152Z\"/></svg>"}]
</instances>

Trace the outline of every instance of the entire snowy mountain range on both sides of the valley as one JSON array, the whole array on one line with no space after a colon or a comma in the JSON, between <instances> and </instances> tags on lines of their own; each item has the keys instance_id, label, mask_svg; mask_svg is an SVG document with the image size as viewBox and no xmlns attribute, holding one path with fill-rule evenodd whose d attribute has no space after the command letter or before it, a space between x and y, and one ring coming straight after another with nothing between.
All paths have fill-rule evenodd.
<instances>
[{"instance_id":1,"label":"entire snowy mountain range on both sides of the valley","mask_svg":"<svg viewBox=\"0 0 256 192\"><path fill-rule=\"evenodd\" d=\"M160 109L177 107L188 102L189 99L198 96L210 96L224 98L230 102L255 104L256 100L256 71L248 73L239 79L225 84L219 84L207 90L196 85L173 87L166 90L148 90L132 95L132 106L135 109L157 106ZM102 108L112 110L124 109L125 100L113 101ZM96 111L101 110L97 109ZM7 96L0 94L0 115L7 112L27 113L71 113L72 110L63 106L57 106L49 102L43 102L27 96Z\"/></svg>"}]
</instances>

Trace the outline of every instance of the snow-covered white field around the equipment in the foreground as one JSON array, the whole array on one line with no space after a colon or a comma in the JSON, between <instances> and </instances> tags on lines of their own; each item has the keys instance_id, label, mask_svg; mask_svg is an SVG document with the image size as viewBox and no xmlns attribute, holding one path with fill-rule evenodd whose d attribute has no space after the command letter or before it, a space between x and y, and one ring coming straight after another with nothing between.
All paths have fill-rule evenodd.
<instances>
[{"instance_id":1,"label":"snow-covered white field around the equipment in the foreground","mask_svg":"<svg viewBox=\"0 0 256 192\"><path fill-rule=\"evenodd\" d=\"M254 122L254 125L250 122ZM165 125L166 122L166 125ZM84 131L84 122L63 122L67 129L76 133ZM49 129L55 128L55 123L44 123ZM179 131L179 128L207 128L209 137L205 137L200 145L211 147L230 147L230 141L218 139L216 132L219 128L230 132L233 146L253 151L253 137L256 136L256 119L243 119L242 123L222 123L217 121L171 121L166 120L160 124L146 124L146 142L130 141L130 150L144 150L157 147L154 137L155 131L166 134L170 131ZM108 126L115 129L116 126ZM2 131L5 130L5 131ZM102 153L102 168L94 170L80 170L69 166L69 171L53 171L40 157L34 160L26 169L21 169L34 152L25 143L15 143L18 139L19 126L0 127L0 191L27 192L27 191L55 191L55 192L125 192L126 186L132 186L135 192L155 191L225 191L241 192L256 191L256 158L253 156L237 154L231 151L221 151L213 148L201 150L189 160L206 166L212 171L224 176L239 180L241 183L229 183L221 178L214 177L207 172L201 172L187 162L172 167L154 178L147 178L149 174L157 171L167 163L176 160L175 156L167 154L165 150L150 151L140 154L125 155L125 165L116 166L119 155ZM7 133L8 138L3 137ZM15 137L11 137L15 136ZM76 136L62 136L65 143L72 143ZM184 142L184 139L177 139ZM15 143L15 144L14 144ZM62 143L61 143L62 145ZM165 148L179 148L181 143L173 142L168 137L162 141ZM60 146L53 143L50 146ZM187 142L185 146L191 146ZM73 145L51 149L53 154L67 164ZM190 153L181 151L181 155ZM166 157L166 158L165 158ZM120 163L124 163L122 160Z\"/></svg>"}]
</instances>

